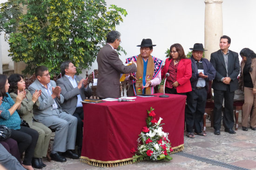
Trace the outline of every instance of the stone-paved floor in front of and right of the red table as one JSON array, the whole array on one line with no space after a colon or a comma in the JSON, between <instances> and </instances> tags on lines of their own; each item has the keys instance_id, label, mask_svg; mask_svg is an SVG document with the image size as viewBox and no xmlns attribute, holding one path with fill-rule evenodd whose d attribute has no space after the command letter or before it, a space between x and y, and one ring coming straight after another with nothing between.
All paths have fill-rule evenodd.
<instances>
[{"instance_id":1,"label":"stone-paved floor in front of and right of the red table","mask_svg":"<svg viewBox=\"0 0 256 170\"><path fill-rule=\"evenodd\" d=\"M208 126L210 126L209 120ZM256 170L256 131L251 129L242 131L241 124L239 124L236 134L224 132L223 127L219 136L214 135L213 131L213 128L207 127L207 137L195 136L195 138L188 138L184 135L183 152ZM184 134L186 134L185 131ZM169 162L143 161L114 168L90 166L81 163L80 160L69 158L65 163L47 162L45 159L44 163L47 164L47 167L42 170L229 170L180 155L172 154L171 157L173 157L173 160Z\"/></svg>"}]
</instances>

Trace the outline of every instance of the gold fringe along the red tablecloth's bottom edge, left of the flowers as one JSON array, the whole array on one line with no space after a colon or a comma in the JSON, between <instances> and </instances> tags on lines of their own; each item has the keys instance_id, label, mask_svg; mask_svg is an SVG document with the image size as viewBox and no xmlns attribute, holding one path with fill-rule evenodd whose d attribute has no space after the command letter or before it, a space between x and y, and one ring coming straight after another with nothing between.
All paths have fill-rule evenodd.
<instances>
[{"instance_id":1,"label":"gold fringe along the red tablecloth's bottom edge, left of the flowers","mask_svg":"<svg viewBox=\"0 0 256 170\"><path fill-rule=\"evenodd\" d=\"M123 165L128 165L136 162L143 161L144 158L141 156L137 157L131 157L127 159L121 159L121 160L116 160L116 161L100 161L96 159L89 159L88 157L80 157L81 162L87 163L92 166L98 166L98 167L118 167L118 166L123 166Z\"/></svg>"}]
</instances>

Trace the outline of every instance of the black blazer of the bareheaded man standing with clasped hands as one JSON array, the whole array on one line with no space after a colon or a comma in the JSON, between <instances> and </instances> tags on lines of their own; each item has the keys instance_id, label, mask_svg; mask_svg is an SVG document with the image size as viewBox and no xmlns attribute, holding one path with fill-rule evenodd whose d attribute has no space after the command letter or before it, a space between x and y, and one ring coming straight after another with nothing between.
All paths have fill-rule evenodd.
<instances>
[{"instance_id":1,"label":"black blazer of the bareheaded man standing with clasped hands","mask_svg":"<svg viewBox=\"0 0 256 170\"><path fill-rule=\"evenodd\" d=\"M228 85L224 84L221 79L223 77L227 77L227 70L225 61L222 55L221 50L211 53L210 62L216 69L216 76L213 80L212 88L214 90L223 90L226 91ZM240 72L240 65L238 59L238 53L232 52L229 50L229 57L228 57L228 76L231 78L230 81L230 92L234 92L238 89L238 79L237 76Z\"/></svg>"}]
</instances>

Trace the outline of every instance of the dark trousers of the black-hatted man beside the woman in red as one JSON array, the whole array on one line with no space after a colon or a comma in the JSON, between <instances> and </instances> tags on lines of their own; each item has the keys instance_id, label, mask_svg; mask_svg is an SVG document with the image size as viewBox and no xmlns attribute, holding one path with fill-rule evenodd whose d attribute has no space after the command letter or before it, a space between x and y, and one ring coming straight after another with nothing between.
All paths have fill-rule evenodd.
<instances>
[{"instance_id":1,"label":"dark trousers of the black-hatted man beside the woman in red","mask_svg":"<svg viewBox=\"0 0 256 170\"><path fill-rule=\"evenodd\" d=\"M195 89L187 93L187 107L185 110L186 131L202 133L202 119L205 111L207 89Z\"/></svg>"}]
</instances>

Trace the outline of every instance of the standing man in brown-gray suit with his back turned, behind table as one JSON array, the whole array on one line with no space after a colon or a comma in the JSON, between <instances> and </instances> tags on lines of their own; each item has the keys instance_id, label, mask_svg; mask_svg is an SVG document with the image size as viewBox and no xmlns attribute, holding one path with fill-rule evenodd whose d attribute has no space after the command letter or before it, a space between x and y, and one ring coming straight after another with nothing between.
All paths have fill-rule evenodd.
<instances>
[{"instance_id":1,"label":"standing man in brown-gray suit with his back turned, behind table","mask_svg":"<svg viewBox=\"0 0 256 170\"><path fill-rule=\"evenodd\" d=\"M137 71L135 61L132 61L132 65L123 65L115 51L121 42L120 36L118 31L110 31L107 35L107 44L101 48L97 55L99 72L97 96L99 98L119 98L120 74Z\"/></svg>"}]
</instances>

